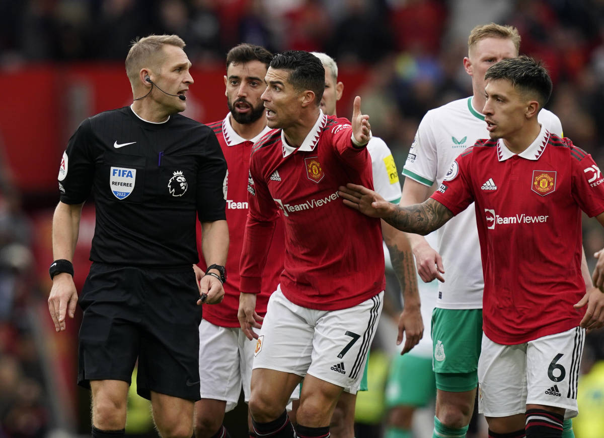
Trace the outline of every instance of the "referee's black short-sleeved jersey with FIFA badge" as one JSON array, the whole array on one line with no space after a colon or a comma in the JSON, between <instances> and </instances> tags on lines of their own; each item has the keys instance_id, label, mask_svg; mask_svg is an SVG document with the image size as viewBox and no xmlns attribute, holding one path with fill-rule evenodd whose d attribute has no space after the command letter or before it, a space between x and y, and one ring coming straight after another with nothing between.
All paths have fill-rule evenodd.
<instances>
[{"instance_id":1,"label":"referee's black short-sleeved jersey with FIFA badge","mask_svg":"<svg viewBox=\"0 0 604 438\"><path fill-rule=\"evenodd\" d=\"M84 120L59 169L61 201L94 192L90 260L144 267L197 263L195 218L225 219L226 162L214 132L180 114L164 123L129 106Z\"/></svg>"}]
</instances>

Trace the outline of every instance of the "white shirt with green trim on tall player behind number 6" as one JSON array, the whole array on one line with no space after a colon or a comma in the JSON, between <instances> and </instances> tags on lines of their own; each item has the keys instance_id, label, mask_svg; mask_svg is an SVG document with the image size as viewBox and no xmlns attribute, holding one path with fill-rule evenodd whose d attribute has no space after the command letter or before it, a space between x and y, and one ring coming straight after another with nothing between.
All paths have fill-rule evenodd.
<instances>
[{"instance_id":1,"label":"white shirt with green trim on tall player behind number 6","mask_svg":"<svg viewBox=\"0 0 604 438\"><path fill-rule=\"evenodd\" d=\"M556 115L541 110L538 117L548 131L562 136ZM472 97L449 102L423 117L402 173L426 186L440 185L457 155L476 140L488 138L484 116L472 106ZM474 208L449 220L436 234L435 250L445 267L436 307L481 309L484 280Z\"/></svg>"}]
</instances>

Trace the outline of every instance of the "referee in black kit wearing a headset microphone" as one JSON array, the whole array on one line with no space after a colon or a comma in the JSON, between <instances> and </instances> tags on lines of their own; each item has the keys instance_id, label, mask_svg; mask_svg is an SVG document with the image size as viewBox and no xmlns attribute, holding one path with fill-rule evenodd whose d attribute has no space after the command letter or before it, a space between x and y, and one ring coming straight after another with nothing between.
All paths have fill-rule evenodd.
<instances>
[{"instance_id":1,"label":"referee in black kit wearing a headset microphone","mask_svg":"<svg viewBox=\"0 0 604 438\"><path fill-rule=\"evenodd\" d=\"M96 209L94 263L79 299L78 373L78 383L92 390L93 437L124 434L137 359L138 393L151 400L161 436L193 434L197 304L222 299L228 228L226 162L216 136L178 114L193 83L184 45L176 35L135 41L126 57L132 105L84 120L60 165L48 299L57 332L76 310L71 260L91 190ZM196 214L205 275L193 268Z\"/></svg>"}]
</instances>

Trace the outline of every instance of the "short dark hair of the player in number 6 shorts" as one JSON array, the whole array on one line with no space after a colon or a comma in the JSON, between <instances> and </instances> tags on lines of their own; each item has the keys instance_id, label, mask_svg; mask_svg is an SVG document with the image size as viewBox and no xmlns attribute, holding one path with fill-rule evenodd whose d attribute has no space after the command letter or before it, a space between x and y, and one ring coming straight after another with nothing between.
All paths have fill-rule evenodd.
<instances>
[{"instance_id":1,"label":"short dark hair of the player in number 6 shorts","mask_svg":"<svg viewBox=\"0 0 604 438\"><path fill-rule=\"evenodd\" d=\"M484 75L484 80L507 79L522 93L536 94L539 106L543 108L550 100L551 78L541 62L530 56L502 59L492 65Z\"/></svg>"}]
</instances>

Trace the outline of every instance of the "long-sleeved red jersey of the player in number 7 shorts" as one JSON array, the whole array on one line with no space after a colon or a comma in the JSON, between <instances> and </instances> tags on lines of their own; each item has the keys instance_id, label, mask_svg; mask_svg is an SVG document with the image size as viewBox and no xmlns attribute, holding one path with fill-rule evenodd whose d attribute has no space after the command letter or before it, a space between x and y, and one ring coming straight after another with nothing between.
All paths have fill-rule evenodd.
<instances>
[{"instance_id":1,"label":"long-sleeved red jersey of the player in number 7 shorts","mask_svg":"<svg viewBox=\"0 0 604 438\"><path fill-rule=\"evenodd\" d=\"M354 148L347 119L320 113L300 148L281 129L254 145L249 215L241 258L241 290L260 290L272 223L283 214L283 294L298 306L337 310L384 290L380 221L344 206L338 187L373 187L371 159Z\"/></svg>"}]
</instances>

